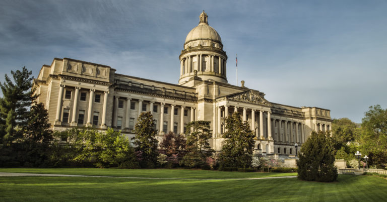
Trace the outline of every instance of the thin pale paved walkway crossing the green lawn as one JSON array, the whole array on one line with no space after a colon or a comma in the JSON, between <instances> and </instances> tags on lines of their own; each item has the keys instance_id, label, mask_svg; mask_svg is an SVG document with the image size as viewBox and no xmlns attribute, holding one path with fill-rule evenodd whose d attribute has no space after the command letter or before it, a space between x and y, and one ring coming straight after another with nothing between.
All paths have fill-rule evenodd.
<instances>
[{"instance_id":1,"label":"thin pale paved walkway crossing the green lawn","mask_svg":"<svg viewBox=\"0 0 387 202\"><path fill-rule=\"evenodd\" d=\"M18 176L52 176L52 177L108 177L108 178L127 178L127 179L184 179L184 180L252 180L252 179L277 179L277 178L295 178L297 176L281 177L254 177L254 178L162 178L162 177L117 177L117 176L98 176L98 175L63 175L63 174L39 174L39 173L18 173L18 172L0 172L0 177L18 177Z\"/></svg>"}]
</instances>

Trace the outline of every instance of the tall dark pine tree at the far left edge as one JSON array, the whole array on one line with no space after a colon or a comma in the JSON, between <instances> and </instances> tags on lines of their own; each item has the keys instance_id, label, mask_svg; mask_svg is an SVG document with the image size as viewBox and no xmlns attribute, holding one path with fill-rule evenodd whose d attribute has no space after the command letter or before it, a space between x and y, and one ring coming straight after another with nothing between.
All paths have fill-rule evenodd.
<instances>
[{"instance_id":1,"label":"tall dark pine tree at the far left edge","mask_svg":"<svg viewBox=\"0 0 387 202\"><path fill-rule=\"evenodd\" d=\"M32 71L26 67L11 71L13 81L5 75L5 82L0 83L3 96L0 98L0 138L3 143L12 142L22 137L21 130L15 130L27 124L30 114L28 108L39 96L33 88Z\"/></svg>"}]
</instances>

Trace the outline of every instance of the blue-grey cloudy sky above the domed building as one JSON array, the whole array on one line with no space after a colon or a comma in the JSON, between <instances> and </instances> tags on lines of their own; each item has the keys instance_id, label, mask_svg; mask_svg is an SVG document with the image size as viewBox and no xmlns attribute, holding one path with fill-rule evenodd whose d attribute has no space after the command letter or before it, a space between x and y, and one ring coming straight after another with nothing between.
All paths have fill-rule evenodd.
<instances>
[{"instance_id":1,"label":"blue-grey cloudy sky above the domed building","mask_svg":"<svg viewBox=\"0 0 387 202\"><path fill-rule=\"evenodd\" d=\"M238 54L238 80L270 102L357 123L369 106L387 108L387 1L2 0L0 74L26 66L36 77L69 57L177 83L203 10L222 38L229 83Z\"/></svg>"}]
</instances>

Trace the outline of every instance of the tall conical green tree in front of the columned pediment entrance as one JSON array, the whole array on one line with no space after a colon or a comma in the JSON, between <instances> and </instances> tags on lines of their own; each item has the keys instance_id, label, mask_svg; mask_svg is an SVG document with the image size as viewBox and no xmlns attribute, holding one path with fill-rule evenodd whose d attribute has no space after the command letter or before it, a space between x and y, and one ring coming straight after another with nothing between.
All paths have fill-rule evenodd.
<instances>
[{"instance_id":1,"label":"tall conical green tree in front of the columned pediment entrance","mask_svg":"<svg viewBox=\"0 0 387 202\"><path fill-rule=\"evenodd\" d=\"M247 122L242 122L239 113L225 119L226 138L219 155L221 167L242 167L251 166L252 151L254 149L254 134Z\"/></svg>"}]
</instances>

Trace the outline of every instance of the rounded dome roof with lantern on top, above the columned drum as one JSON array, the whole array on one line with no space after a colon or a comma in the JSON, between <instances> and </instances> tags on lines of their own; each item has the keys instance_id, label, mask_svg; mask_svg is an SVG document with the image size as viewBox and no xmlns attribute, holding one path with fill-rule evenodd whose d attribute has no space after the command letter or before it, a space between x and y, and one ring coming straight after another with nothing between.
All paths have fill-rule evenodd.
<instances>
[{"instance_id":1,"label":"rounded dome roof with lantern on top, above the columned drum","mask_svg":"<svg viewBox=\"0 0 387 202\"><path fill-rule=\"evenodd\" d=\"M216 32L214 28L208 25L207 18L208 16L204 12L200 15L199 25L188 33L187 37L185 38L185 43L198 39L207 39L222 43L218 32Z\"/></svg>"}]
</instances>

